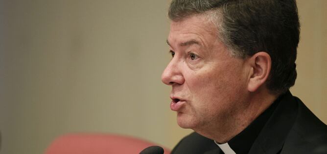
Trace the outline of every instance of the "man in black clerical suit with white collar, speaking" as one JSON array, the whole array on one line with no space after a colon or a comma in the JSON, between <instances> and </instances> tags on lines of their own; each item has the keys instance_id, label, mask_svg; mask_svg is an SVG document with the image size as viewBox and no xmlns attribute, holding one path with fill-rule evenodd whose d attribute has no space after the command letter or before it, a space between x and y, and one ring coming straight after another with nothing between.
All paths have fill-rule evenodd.
<instances>
[{"instance_id":1,"label":"man in black clerical suit with white collar, speaking","mask_svg":"<svg viewBox=\"0 0 327 154\"><path fill-rule=\"evenodd\" d=\"M327 126L292 96L295 0L172 0L167 43L172 154L327 154Z\"/></svg>"}]
</instances>

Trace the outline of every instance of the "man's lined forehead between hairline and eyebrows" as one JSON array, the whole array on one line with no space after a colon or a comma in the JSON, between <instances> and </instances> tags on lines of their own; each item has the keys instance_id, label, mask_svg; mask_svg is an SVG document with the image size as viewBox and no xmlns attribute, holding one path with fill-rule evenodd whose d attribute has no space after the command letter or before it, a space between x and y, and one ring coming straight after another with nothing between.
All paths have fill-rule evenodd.
<instances>
[{"instance_id":1,"label":"man's lined forehead between hairline and eyebrows","mask_svg":"<svg viewBox=\"0 0 327 154\"><path fill-rule=\"evenodd\" d=\"M187 41L197 41L199 45L208 46L216 39L217 31L214 24L204 15L195 15L180 21L172 21L167 42L170 46L176 46Z\"/></svg>"}]
</instances>

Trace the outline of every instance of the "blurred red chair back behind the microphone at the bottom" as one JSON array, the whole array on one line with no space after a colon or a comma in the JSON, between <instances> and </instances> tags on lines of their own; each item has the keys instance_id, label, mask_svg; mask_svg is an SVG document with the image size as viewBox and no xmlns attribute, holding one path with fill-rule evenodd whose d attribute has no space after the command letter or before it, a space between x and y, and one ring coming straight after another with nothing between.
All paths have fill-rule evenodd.
<instances>
[{"instance_id":1,"label":"blurred red chair back behind the microphone at the bottom","mask_svg":"<svg viewBox=\"0 0 327 154\"><path fill-rule=\"evenodd\" d=\"M139 154L156 145L135 137L105 134L68 134L56 138L45 154ZM163 148L164 154L170 150Z\"/></svg>"}]
</instances>

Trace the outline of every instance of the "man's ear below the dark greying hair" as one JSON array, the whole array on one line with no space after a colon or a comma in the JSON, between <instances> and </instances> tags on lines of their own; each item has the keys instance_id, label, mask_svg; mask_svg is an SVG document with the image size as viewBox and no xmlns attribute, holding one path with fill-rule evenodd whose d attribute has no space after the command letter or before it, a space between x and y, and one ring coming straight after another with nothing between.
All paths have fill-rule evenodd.
<instances>
[{"instance_id":1,"label":"man's ear below the dark greying hair","mask_svg":"<svg viewBox=\"0 0 327 154\"><path fill-rule=\"evenodd\" d=\"M267 80L271 69L271 58L266 52L258 52L248 59L251 72L249 74L248 90L255 92Z\"/></svg>"}]
</instances>

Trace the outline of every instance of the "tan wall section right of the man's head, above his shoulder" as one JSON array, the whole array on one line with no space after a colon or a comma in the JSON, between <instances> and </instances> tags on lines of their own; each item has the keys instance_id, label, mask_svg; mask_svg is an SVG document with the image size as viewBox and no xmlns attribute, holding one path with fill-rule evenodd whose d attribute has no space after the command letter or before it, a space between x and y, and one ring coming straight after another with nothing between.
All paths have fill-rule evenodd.
<instances>
[{"instance_id":1,"label":"tan wall section right of the man's head, above his shoulder","mask_svg":"<svg viewBox=\"0 0 327 154\"><path fill-rule=\"evenodd\" d=\"M298 0L301 40L292 93L327 123L327 0Z\"/></svg>"}]
</instances>

